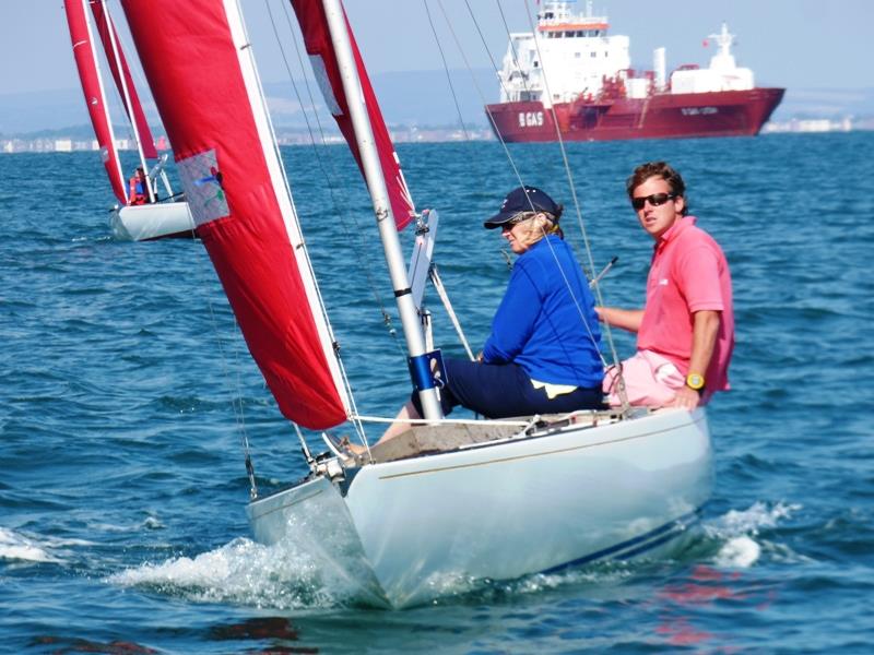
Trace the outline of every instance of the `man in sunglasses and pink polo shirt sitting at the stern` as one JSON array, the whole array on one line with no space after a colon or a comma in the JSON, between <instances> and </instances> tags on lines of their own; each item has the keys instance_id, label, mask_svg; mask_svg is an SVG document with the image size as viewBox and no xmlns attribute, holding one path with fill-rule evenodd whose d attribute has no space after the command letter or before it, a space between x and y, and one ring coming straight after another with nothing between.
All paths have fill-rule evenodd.
<instances>
[{"instance_id":1,"label":"man in sunglasses and pink polo shirt sitting at the stern","mask_svg":"<svg viewBox=\"0 0 874 655\"><path fill-rule=\"evenodd\" d=\"M688 216L686 187L664 162L638 166L626 183L640 226L656 240L643 309L597 308L599 319L637 333L622 364L628 402L694 408L729 389L734 348L731 274L722 249ZM616 371L604 379L621 404Z\"/></svg>"}]
</instances>

